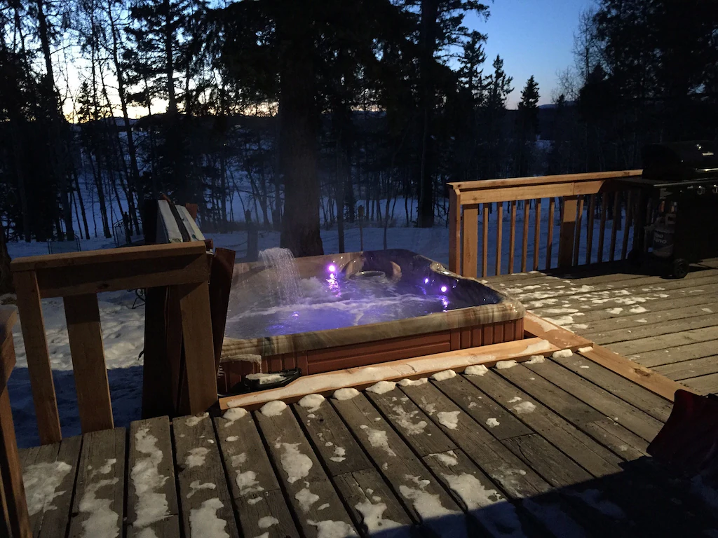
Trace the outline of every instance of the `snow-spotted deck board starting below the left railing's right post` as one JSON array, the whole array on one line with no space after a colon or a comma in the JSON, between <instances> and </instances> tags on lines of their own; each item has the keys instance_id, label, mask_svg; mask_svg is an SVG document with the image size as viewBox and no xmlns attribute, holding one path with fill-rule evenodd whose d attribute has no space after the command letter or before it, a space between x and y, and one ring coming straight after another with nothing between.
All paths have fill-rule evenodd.
<instances>
[{"instance_id":1,"label":"snow-spotted deck board starting below the left railing's right post","mask_svg":"<svg viewBox=\"0 0 718 538\"><path fill-rule=\"evenodd\" d=\"M174 419L172 437L183 534L196 536L209 521L230 538L239 538L212 419L207 413Z\"/></svg>"}]
</instances>

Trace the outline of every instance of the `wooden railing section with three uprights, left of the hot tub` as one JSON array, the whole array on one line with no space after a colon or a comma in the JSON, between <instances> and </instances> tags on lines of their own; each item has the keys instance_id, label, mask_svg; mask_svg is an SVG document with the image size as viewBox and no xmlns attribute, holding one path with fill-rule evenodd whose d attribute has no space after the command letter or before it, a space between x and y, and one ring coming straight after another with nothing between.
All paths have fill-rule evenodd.
<instances>
[{"instance_id":1,"label":"wooden railing section with three uprights, left of the hot tub","mask_svg":"<svg viewBox=\"0 0 718 538\"><path fill-rule=\"evenodd\" d=\"M40 299L62 297L83 433L113 428L97 293L169 287L179 298L185 349L187 412L217 401L203 242L17 258L13 271L40 443L62 439ZM146 335L164 338L164 335Z\"/></svg>"}]
</instances>

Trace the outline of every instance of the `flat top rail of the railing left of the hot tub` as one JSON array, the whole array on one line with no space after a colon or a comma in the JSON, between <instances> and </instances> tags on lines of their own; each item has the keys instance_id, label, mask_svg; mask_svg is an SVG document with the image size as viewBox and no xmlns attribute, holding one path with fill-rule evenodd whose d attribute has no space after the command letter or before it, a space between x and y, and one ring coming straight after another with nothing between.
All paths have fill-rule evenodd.
<instances>
[{"instance_id":1,"label":"flat top rail of the railing left of the hot tub","mask_svg":"<svg viewBox=\"0 0 718 538\"><path fill-rule=\"evenodd\" d=\"M13 272L51 269L69 266L90 265L95 263L117 263L123 261L146 260L149 258L172 258L205 253L204 242L171 243L168 245L142 245L107 250L85 250L78 253L45 254L16 258L10 263Z\"/></svg>"}]
</instances>

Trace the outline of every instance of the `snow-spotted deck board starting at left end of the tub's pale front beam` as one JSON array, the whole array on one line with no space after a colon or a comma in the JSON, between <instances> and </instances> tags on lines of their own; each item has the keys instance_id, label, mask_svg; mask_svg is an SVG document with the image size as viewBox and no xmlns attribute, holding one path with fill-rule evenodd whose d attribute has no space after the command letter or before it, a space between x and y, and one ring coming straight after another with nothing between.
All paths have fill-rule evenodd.
<instances>
[{"instance_id":1,"label":"snow-spotted deck board starting at left end of the tub's pale front beam","mask_svg":"<svg viewBox=\"0 0 718 538\"><path fill-rule=\"evenodd\" d=\"M232 413L238 415L241 411ZM299 531L252 415L217 417L215 429L243 536L261 536L268 532L268 538L298 537Z\"/></svg>"}]
</instances>

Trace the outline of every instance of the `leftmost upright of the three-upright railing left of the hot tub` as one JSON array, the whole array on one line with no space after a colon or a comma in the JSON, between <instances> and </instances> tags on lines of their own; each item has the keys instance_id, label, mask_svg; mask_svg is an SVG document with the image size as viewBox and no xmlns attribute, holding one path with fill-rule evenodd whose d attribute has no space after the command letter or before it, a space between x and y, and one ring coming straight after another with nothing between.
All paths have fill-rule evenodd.
<instances>
[{"instance_id":1,"label":"leftmost upright of the three-upright railing left of the hot tub","mask_svg":"<svg viewBox=\"0 0 718 538\"><path fill-rule=\"evenodd\" d=\"M14 274L14 283L40 443L59 443L62 440L60 415L57 413L37 277L34 271L19 271Z\"/></svg>"}]
</instances>

